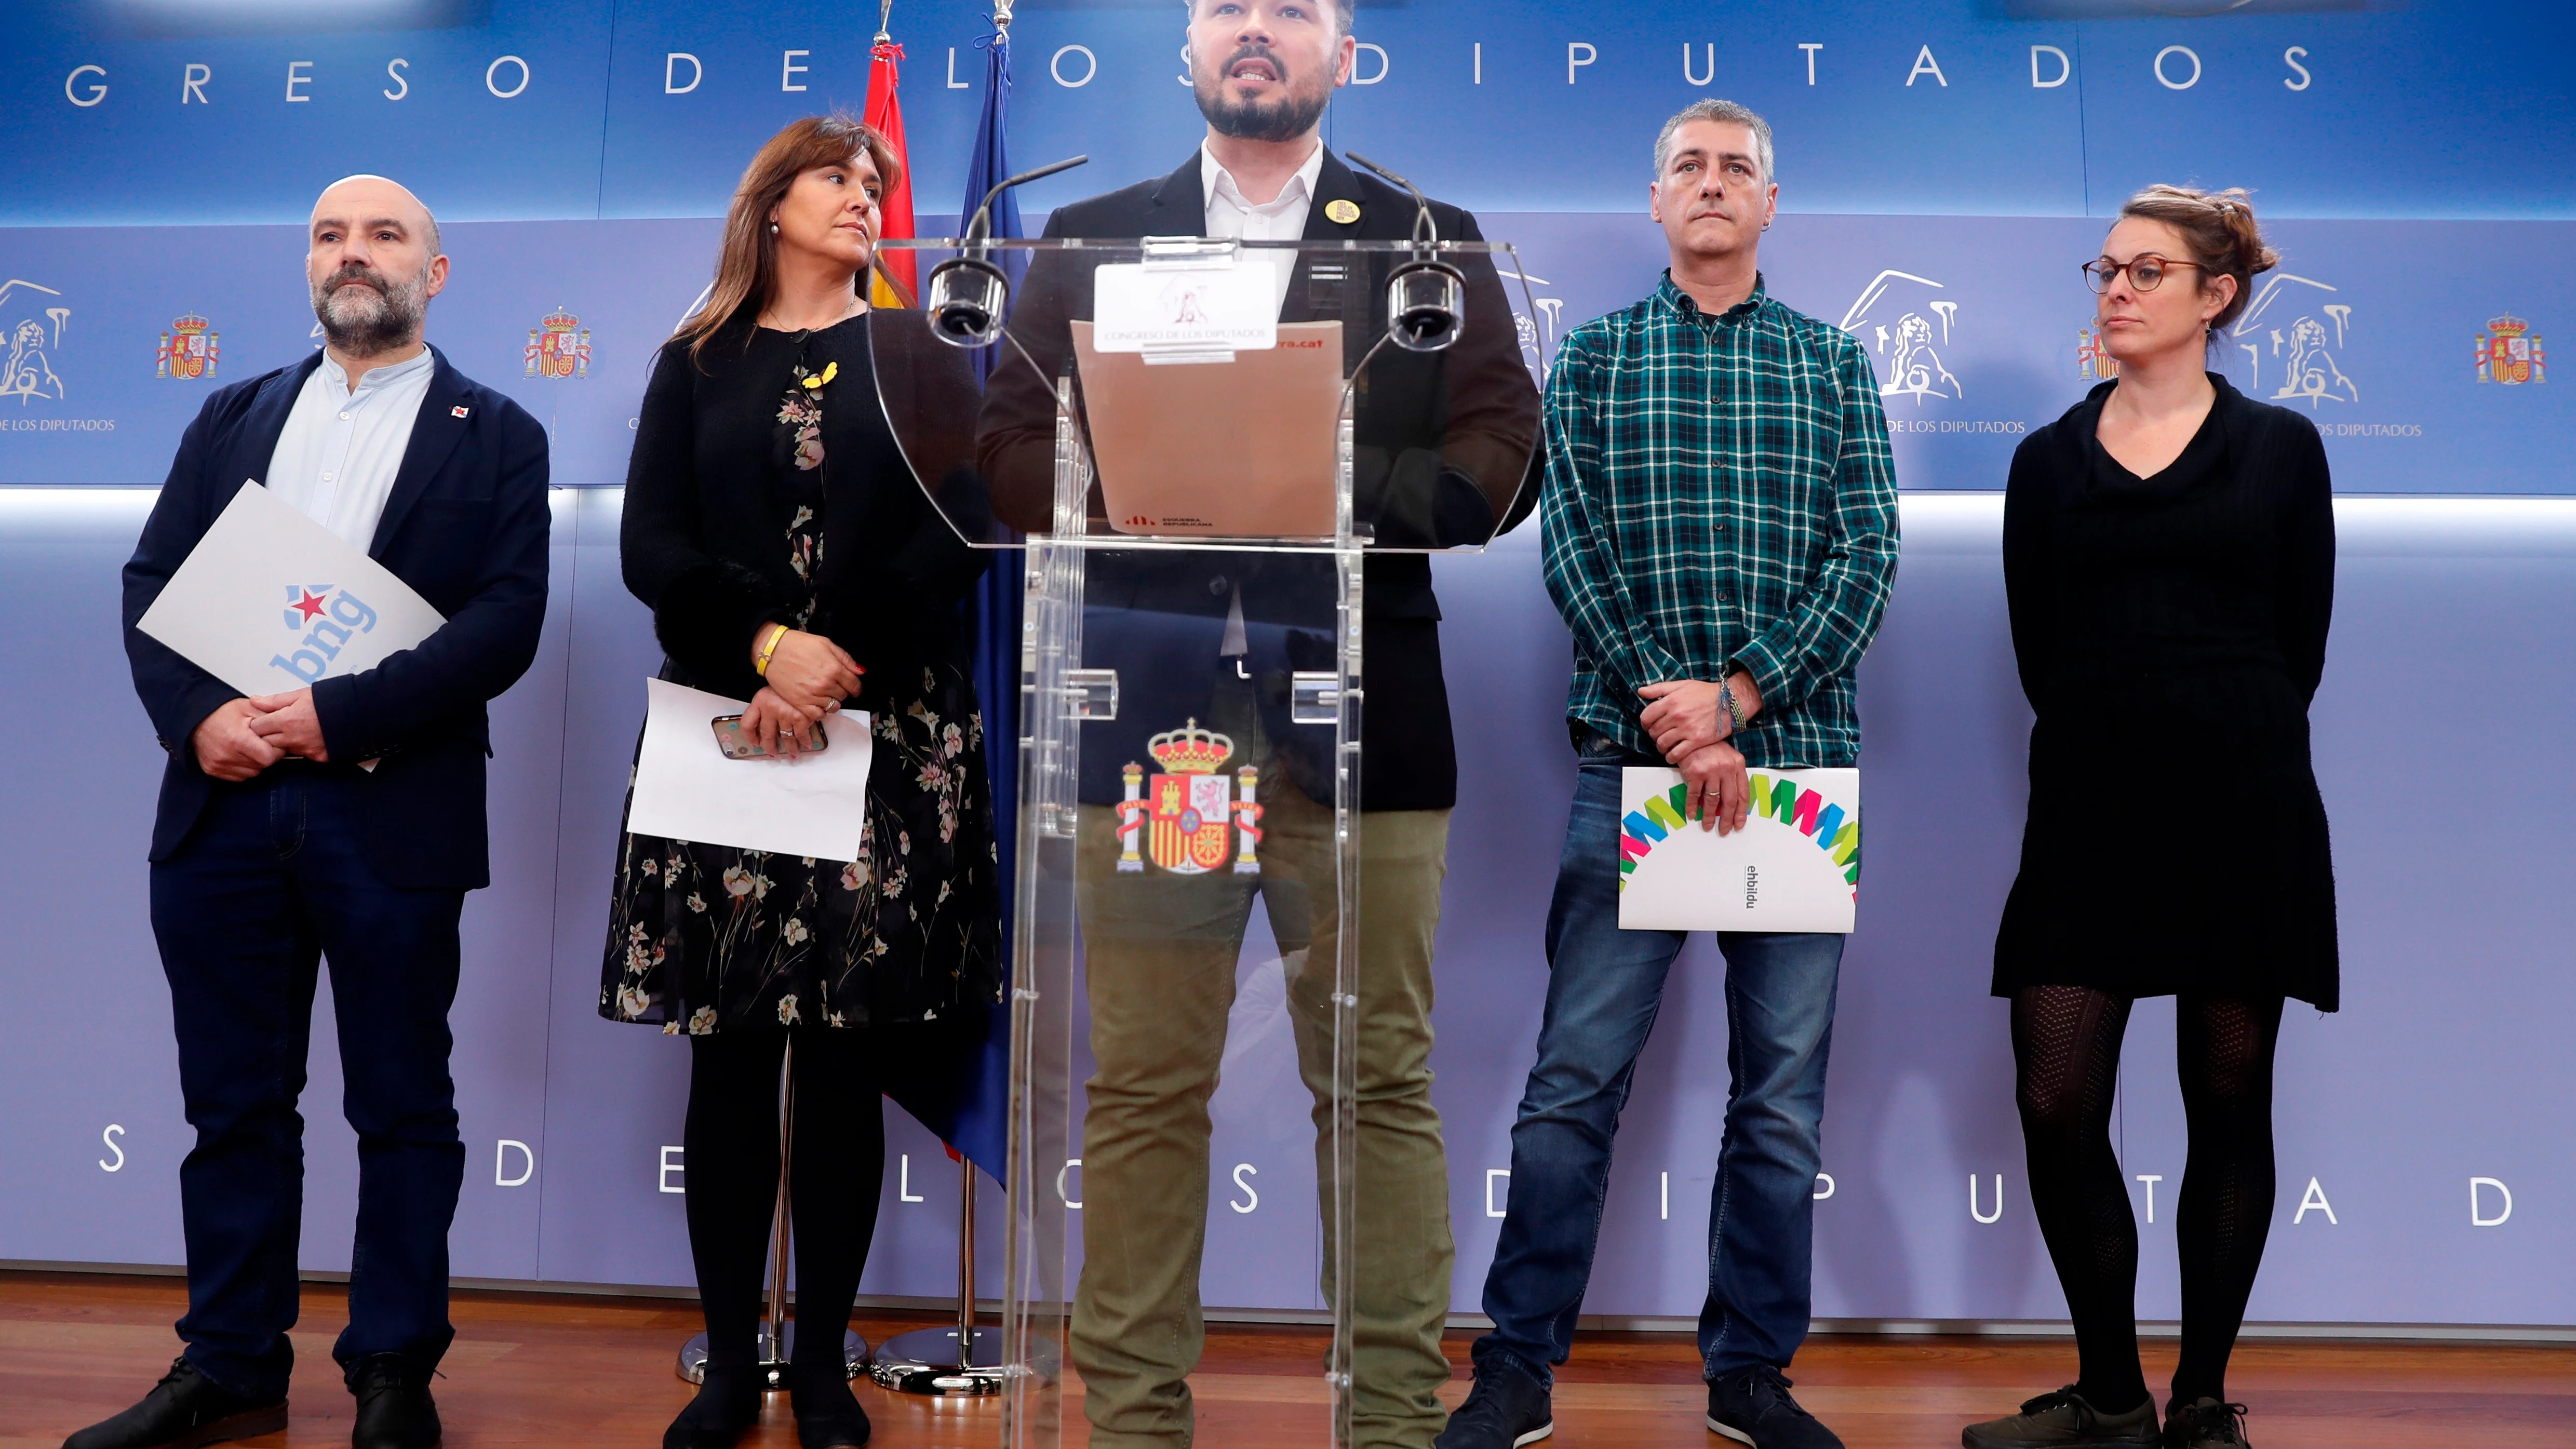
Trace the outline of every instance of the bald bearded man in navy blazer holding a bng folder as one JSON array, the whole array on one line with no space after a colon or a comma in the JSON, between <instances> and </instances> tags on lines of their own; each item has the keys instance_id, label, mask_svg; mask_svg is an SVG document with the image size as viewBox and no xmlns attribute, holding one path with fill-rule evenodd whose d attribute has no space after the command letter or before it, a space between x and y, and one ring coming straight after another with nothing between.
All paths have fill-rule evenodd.
<instances>
[{"instance_id":1,"label":"bald bearded man in navy blazer holding a bng folder","mask_svg":"<svg viewBox=\"0 0 2576 1449\"><path fill-rule=\"evenodd\" d=\"M526 673L546 621L546 431L420 340L448 258L417 196L381 175L332 183L304 266L325 348L206 397L124 575L134 691L167 750L152 933L196 1127L178 1171L185 1354L64 1449L286 1428L296 1098L325 962L358 1132L332 1346L358 1400L350 1439L440 1439L430 1374L456 1338L448 1222L466 1160L448 1078L456 923L492 877L484 701ZM446 624L371 670L252 699L137 629L245 480L366 549ZM296 593L312 611L314 588Z\"/></svg>"}]
</instances>

